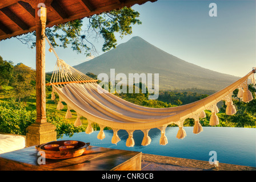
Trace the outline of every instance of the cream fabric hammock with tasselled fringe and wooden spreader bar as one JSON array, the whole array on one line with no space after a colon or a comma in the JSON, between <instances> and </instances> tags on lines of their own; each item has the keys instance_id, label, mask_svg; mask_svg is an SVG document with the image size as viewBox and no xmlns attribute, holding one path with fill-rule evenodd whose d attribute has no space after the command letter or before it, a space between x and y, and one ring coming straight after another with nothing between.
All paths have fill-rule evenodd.
<instances>
[{"instance_id":1,"label":"cream fabric hammock with tasselled fringe and wooden spreader bar","mask_svg":"<svg viewBox=\"0 0 256 182\"><path fill-rule=\"evenodd\" d=\"M47 38L46 40L49 42ZM49 51L54 51L52 46ZM57 53L55 55L57 56ZM205 110L211 111L210 126L218 125L219 119L216 114L218 113L217 103L219 101L226 101L227 115L237 112L232 102L232 94L235 89L239 89L237 97L241 98L243 102L253 100L253 96L248 89L247 80L250 78L253 84L255 84L254 73L255 69L233 84L202 100L183 106L167 108L144 107L122 100L101 88L97 84L98 80L94 80L77 69L70 67L65 61L59 59L58 56L51 81L47 85L53 87L53 92L51 93L52 100L55 100L54 92L59 96L58 110L63 109L62 101L67 104L66 118L72 117L70 110L74 110L77 113L75 126L82 125L81 116L86 117L88 121L86 133L90 134L93 132L91 124L93 122L98 123L100 127L98 139L104 139L103 129L110 127L113 129L111 142L114 144L117 144L120 140L118 130L126 130L129 134L126 146L133 147L133 132L135 130L143 131L144 137L141 144L146 146L151 142L148 134L149 130L153 128L158 128L161 131L159 144L167 144L165 129L167 125L172 123L179 127L177 138L185 138L186 131L183 129L183 123L187 118L194 119L193 133L200 133L203 131L203 128L199 118L206 117Z\"/></svg>"}]
</instances>

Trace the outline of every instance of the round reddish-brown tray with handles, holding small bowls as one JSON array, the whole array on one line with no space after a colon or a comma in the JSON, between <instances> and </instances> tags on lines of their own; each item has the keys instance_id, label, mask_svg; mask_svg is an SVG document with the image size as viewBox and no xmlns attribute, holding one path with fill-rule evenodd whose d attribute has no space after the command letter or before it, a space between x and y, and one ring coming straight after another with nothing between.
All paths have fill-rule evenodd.
<instances>
[{"instance_id":1,"label":"round reddish-brown tray with handles, holding small bowls","mask_svg":"<svg viewBox=\"0 0 256 182\"><path fill-rule=\"evenodd\" d=\"M75 158L77 156L81 156L86 151L86 147L90 145L90 143L85 143L78 141L78 145L73 149L69 151L50 151L45 150L46 144L59 144L59 146L64 146L64 142L71 141L71 140L59 140L59 141L53 141L44 143L38 146L35 146L37 150L39 151L39 154L46 159L69 159L69 158Z\"/></svg>"}]
</instances>

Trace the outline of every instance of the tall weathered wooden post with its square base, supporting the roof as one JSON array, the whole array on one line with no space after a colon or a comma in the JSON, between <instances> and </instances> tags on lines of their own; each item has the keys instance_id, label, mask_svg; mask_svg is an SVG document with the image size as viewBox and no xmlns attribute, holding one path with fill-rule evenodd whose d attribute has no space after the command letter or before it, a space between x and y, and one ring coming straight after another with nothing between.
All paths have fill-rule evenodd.
<instances>
[{"instance_id":1,"label":"tall weathered wooden post with its square base, supporting the roof","mask_svg":"<svg viewBox=\"0 0 256 182\"><path fill-rule=\"evenodd\" d=\"M41 12L38 14L38 12ZM40 15L40 16L39 16ZM45 27L46 7L35 9L36 21L36 102L37 119L27 127L26 146L33 146L56 140L56 127L46 120L45 93Z\"/></svg>"}]
</instances>

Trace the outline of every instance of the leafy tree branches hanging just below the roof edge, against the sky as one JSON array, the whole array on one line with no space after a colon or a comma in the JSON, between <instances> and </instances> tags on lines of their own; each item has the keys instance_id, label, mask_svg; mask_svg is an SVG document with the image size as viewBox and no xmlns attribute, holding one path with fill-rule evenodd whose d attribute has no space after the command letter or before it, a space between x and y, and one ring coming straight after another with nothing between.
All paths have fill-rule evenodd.
<instances>
[{"instance_id":1,"label":"leafy tree branches hanging just below the roof edge, against the sky","mask_svg":"<svg viewBox=\"0 0 256 182\"><path fill-rule=\"evenodd\" d=\"M64 24L59 24L52 28L46 28L46 36L49 38L53 47L67 48L71 45L77 53L84 53L90 56L97 53L97 49L92 40L103 38L102 51L109 51L117 46L115 32L124 35L132 34L132 24L141 24L137 19L139 13L129 7L120 10L112 10L100 15L93 15L87 20L87 26L83 26L83 20L74 20ZM22 43L35 47L35 32L25 36L17 37Z\"/></svg>"}]
</instances>

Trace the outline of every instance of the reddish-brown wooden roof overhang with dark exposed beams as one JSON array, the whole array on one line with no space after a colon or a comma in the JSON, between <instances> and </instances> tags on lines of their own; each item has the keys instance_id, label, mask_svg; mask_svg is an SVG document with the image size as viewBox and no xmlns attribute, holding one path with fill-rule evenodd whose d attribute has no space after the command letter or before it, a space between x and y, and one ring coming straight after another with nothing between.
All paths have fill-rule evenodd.
<instances>
[{"instance_id":1,"label":"reddish-brown wooden roof overhang with dark exposed beams","mask_svg":"<svg viewBox=\"0 0 256 182\"><path fill-rule=\"evenodd\" d=\"M35 31L38 2L47 7L46 27L157 0L0 0L0 40Z\"/></svg>"}]
</instances>

